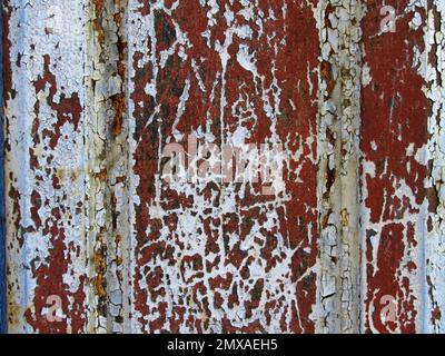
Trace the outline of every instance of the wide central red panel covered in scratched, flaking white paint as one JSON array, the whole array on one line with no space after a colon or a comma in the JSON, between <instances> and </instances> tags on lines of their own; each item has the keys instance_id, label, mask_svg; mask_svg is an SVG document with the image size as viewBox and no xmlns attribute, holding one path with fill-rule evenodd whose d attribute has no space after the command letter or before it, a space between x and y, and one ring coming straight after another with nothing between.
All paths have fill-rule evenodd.
<instances>
[{"instance_id":1,"label":"wide central red panel covered in scratched, flaking white paint","mask_svg":"<svg viewBox=\"0 0 445 356\"><path fill-rule=\"evenodd\" d=\"M132 218L135 329L313 332L315 190L298 196L304 181L297 176L279 196L266 199L253 186L165 186L158 178L162 147L194 134L217 145L278 140L290 152L301 149L300 177L305 174L306 184L314 186L309 157L315 156L315 139L309 138L316 130L316 92L305 101L286 80L296 76L306 95L307 78L316 79L310 7L241 1L202 2L197 9L191 1L171 7L130 1L131 9L140 9L131 16L137 26L129 34L138 177L132 185L138 196ZM310 40L297 34L306 23L314 29ZM314 51L289 56L295 43ZM263 46L266 52L258 50ZM279 122L293 129L284 130ZM294 222L286 226L287 219Z\"/></svg>"}]
</instances>

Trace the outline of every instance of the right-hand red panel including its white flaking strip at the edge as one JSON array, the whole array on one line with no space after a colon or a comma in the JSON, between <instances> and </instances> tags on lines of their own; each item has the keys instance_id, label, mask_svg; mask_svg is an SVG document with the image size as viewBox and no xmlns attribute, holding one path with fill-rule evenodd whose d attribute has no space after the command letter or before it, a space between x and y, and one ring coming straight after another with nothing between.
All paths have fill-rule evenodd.
<instances>
[{"instance_id":1,"label":"right-hand red panel including its white flaking strip at the edge","mask_svg":"<svg viewBox=\"0 0 445 356\"><path fill-rule=\"evenodd\" d=\"M383 6L397 21L378 36ZM360 147L364 330L443 330L443 1L369 1ZM384 296L397 308L378 315Z\"/></svg>"}]
</instances>

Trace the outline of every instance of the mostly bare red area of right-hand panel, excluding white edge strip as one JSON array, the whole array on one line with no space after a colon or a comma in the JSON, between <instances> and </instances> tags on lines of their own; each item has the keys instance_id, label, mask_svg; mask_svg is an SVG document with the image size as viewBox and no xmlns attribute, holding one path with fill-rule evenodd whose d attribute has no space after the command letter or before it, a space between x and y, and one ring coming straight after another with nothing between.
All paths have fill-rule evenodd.
<instances>
[{"instance_id":1,"label":"mostly bare red area of right-hand panel, excluding white edge strip","mask_svg":"<svg viewBox=\"0 0 445 356\"><path fill-rule=\"evenodd\" d=\"M408 1L385 1L403 14ZM409 28L414 12L400 16L395 32L375 36L382 21L382 1L367 1L363 20L364 61L372 82L363 88L360 142L363 159L375 167L365 175L368 191L364 206L369 224L364 226L366 246L365 328L372 324L379 333L415 333L419 301L417 285L422 273L424 236L416 229L426 196L424 180L428 169L415 155L428 140L426 119L429 103L423 93L423 78L417 72L414 48L424 50L423 29ZM425 12L419 12L425 18ZM372 240L377 239L378 244ZM421 245L419 245L421 244ZM397 300L397 318L385 325L380 319L383 296Z\"/></svg>"}]
</instances>

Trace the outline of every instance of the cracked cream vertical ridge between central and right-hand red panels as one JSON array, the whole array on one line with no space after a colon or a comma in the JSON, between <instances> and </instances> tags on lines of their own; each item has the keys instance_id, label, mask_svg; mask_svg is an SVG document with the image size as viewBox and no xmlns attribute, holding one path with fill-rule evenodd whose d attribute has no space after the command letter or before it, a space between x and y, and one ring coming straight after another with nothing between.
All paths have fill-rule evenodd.
<instances>
[{"instance_id":1,"label":"cracked cream vertical ridge between central and right-hand red panels","mask_svg":"<svg viewBox=\"0 0 445 356\"><path fill-rule=\"evenodd\" d=\"M359 294L359 1L322 1L319 201L323 333L357 333Z\"/></svg>"}]
</instances>

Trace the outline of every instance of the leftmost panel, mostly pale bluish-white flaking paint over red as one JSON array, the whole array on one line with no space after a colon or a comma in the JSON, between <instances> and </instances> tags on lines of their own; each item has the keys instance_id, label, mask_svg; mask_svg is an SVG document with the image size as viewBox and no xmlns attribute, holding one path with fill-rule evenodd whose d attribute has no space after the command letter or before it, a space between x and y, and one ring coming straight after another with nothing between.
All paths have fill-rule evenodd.
<instances>
[{"instance_id":1,"label":"leftmost panel, mostly pale bluish-white flaking paint over red","mask_svg":"<svg viewBox=\"0 0 445 356\"><path fill-rule=\"evenodd\" d=\"M69 9L76 24L49 31L59 6ZM79 333L86 325L85 255L79 254L85 236L82 11L82 2L71 1L34 1L34 7L9 1L4 9L8 329L12 333ZM61 171L67 174L60 176ZM51 295L60 298L63 315L52 324L44 315Z\"/></svg>"}]
</instances>

